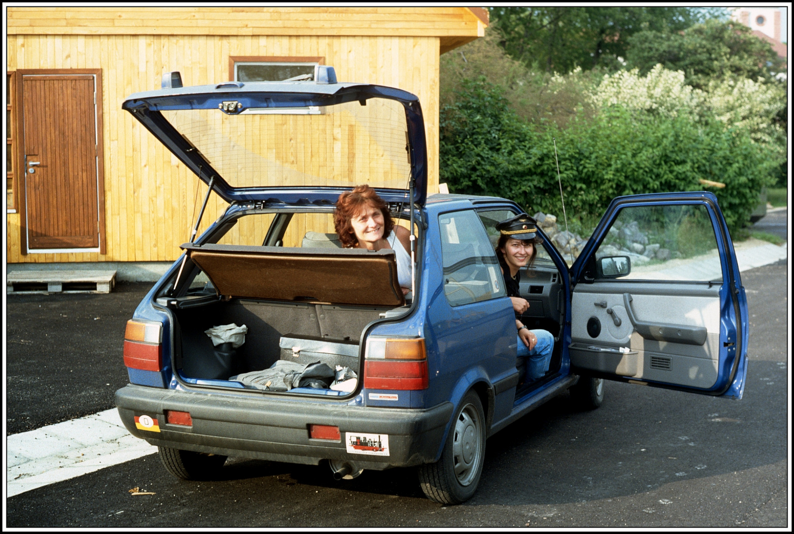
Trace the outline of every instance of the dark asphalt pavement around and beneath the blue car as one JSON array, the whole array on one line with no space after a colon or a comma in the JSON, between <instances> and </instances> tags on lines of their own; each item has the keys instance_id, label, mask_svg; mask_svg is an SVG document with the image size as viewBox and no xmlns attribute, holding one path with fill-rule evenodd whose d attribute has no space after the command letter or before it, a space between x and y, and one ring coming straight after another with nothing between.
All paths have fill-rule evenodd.
<instances>
[{"instance_id":1,"label":"dark asphalt pavement around and beneath the blue car","mask_svg":"<svg viewBox=\"0 0 794 534\"><path fill-rule=\"evenodd\" d=\"M6 526L785 528L787 263L742 282L742 401L616 382L594 412L559 397L488 439L480 489L461 506L428 501L412 470L337 482L327 466L229 459L222 480L184 482L148 455L8 498ZM8 297L6 435L113 407L125 322L151 285Z\"/></svg>"}]
</instances>

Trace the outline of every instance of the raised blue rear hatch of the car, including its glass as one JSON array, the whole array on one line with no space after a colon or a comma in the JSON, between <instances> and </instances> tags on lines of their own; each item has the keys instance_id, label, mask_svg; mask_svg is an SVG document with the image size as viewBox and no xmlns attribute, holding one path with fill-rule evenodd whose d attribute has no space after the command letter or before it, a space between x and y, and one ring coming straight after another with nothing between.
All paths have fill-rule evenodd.
<instances>
[{"instance_id":1,"label":"raised blue rear hatch of the car, including its glass","mask_svg":"<svg viewBox=\"0 0 794 534\"><path fill-rule=\"evenodd\" d=\"M122 107L229 203L335 202L358 184L389 203L407 203L413 186L425 203L422 109L407 91L229 82L136 93Z\"/></svg>"}]
</instances>

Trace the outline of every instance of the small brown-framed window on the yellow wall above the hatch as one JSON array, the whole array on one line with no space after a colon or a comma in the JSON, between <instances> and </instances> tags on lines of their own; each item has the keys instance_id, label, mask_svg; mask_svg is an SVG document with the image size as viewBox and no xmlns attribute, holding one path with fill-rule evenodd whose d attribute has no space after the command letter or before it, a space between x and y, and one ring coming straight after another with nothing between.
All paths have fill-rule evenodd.
<instances>
[{"instance_id":1,"label":"small brown-framed window on the yellow wall above the hatch","mask_svg":"<svg viewBox=\"0 0 794 534\"><path fill-rule=\"evenodd\" d=\"M283 82L314 79L314 66L323 57L237 56L229 58L229 73L236 82Z\"/></svg>"}]
</instances>

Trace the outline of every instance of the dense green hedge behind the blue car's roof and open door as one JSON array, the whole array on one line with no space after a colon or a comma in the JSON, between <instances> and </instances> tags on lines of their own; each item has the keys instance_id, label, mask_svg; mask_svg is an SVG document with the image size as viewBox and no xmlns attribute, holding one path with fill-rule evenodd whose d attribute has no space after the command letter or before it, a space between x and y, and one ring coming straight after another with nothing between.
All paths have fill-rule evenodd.
<instances>
[{"instance_id":1,"label":"dense green hedge behind the blue car's roof and open door","mask_svg":"<svg viewBox=\"0 0 794 534\"><path fill-rule=\"evenodd\" d=\"M484 80L467 81L457 96L441 109L441 182L451 192L514 199L530 213L561 215L555 139L565 208L579 219L601 215L619 195L705 188L736 230L774 170L761 146L716 120L611 107L561 130L523 122ZM706 188L700 178L726 187Z\"/></svg>"}]
</instances>

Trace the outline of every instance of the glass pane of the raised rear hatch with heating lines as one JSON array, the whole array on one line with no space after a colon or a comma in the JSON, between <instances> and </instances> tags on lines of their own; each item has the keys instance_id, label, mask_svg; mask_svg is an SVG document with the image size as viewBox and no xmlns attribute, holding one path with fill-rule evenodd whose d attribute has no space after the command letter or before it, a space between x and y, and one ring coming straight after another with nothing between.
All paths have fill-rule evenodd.
<instances>
[{"instance_id":1,"label":"glass pane of the raised rear hatch with heating lines","mask_svg":"<svg viewBox=\"0 0 794 534\"><path fill-rule=\"evenodd\" d=\"M292 185L407 188L403 105L368 99L289 114L280 108L163 110L233 188Z\"/></svg>"}]
</instances>

